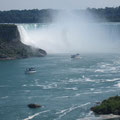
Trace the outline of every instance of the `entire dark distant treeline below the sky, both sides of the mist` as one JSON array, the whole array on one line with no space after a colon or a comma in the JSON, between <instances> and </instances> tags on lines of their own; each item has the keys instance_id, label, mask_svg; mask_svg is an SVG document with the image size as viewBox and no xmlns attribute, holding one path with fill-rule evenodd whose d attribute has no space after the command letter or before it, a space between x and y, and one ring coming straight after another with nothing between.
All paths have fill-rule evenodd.
<instances>
[{"instance_id":1,"label":"entire dark distant treeline below the sky, both sides of the mist","mask_svg":"<svg viewBox=\"0 0 120 120\"><path fill-rule=\"evenodd\" d=\"M53 21L53 16L59 10L52 9L33 9L33 10L10 10L0 11L0 23L43 23ZM81 13L92 13L99 21L120 22L120 7L112 8L88 8L86 10L77 10ZM87 15L87 14L86 14Z\"/></svg>"}]
</instances>

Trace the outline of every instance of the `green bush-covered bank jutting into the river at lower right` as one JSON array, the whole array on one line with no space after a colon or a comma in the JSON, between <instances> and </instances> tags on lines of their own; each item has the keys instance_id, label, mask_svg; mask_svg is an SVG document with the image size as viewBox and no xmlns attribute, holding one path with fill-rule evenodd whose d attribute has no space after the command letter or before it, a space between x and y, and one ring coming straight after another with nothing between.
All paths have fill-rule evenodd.
<instances>
[{"instance_id":1,"label":"green bush-covered bank jutting into the river at lower right","mask_svg":"<svg viewBox=\"0 0 120 120\"><path fill-rule=\"evenodd\" d=\"M100 105L96 105L91 110L98 115L120 115L120 96L110 97L103 100Z\"/></svg>"}]
</instances>

